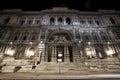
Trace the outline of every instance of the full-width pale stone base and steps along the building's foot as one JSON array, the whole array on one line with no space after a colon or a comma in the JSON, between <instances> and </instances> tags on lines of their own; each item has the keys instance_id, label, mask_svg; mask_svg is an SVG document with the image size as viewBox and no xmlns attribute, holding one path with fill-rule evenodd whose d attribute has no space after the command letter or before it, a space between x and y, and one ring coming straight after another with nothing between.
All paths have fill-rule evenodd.
<instances>
[{"instance_id":1,"label":"full-width pale stone base and steps along the building's foot","mask_svg":"<svg viewBox=\"0 0 120 80\"><path fill-rule=\"evenodd\" d=\"M120 72L118 58L90 59L85 62L43 62L34 65L30 60L14 60L6 58L1 65L1 72L38 72L38 73L80 73L80 72Z\"/></svg>"}]
</instances>

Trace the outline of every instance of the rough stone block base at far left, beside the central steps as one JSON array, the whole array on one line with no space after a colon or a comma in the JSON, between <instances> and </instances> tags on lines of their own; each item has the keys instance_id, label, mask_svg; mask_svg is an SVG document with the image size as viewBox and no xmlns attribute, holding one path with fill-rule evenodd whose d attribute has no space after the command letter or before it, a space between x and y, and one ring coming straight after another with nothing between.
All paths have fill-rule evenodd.
<instances>
[{"instance_id":1,"label":"rough stone block base at far left, beside the central steps","mask_svg":"<svg viewBox=\"0 0 120 80\"><path fill-rule=\"evenodd\" d=\"M5 58L1 65L1 72L29 72L33 67L30 60L14 60L14 58Z\"/></svg>"}]
</instances>

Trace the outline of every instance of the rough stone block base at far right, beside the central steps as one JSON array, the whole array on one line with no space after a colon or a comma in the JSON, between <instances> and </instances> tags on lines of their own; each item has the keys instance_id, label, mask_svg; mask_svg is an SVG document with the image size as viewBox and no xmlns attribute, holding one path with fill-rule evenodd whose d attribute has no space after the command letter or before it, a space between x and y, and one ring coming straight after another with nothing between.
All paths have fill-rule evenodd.
<instances>
[{"instance_id":1,"label":"rough stone block base at far right, beside the central steps","mask_svg":"<svg viewBox=\"0 0 120 80\"><path fill-rule=\"evenodd\" d=\"M93 59L85 62L89 71L120 71L118 58Z\"/></svg>"}]
</instances>

